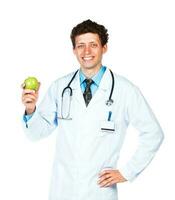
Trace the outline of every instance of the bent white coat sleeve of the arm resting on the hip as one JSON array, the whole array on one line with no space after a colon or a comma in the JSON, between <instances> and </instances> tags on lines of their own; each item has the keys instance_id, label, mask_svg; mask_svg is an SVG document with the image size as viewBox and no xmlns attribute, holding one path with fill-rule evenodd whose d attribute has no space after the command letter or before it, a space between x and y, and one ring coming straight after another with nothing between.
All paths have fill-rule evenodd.
<instances>
[{"instance_id":1,"label":"bent white coat sleeve of the arm resting on the hip","mask_svg":"<svg viewBox=\"0 0 175 200\"><path fill-rule=\"evenodd\" d=\"M164 134L140 90L135 86L128 92L126 110L129 123L139 131L139 142L134 155L119 171L127 180L132 181L151 162Z\"/></svg>"}]
</instances>

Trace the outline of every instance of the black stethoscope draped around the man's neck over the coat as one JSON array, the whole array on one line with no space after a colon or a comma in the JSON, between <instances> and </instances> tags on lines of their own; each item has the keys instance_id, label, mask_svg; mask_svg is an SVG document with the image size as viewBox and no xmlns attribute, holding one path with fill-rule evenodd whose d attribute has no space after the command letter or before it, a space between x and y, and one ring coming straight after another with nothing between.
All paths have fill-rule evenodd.
<instances>
[{"instance_id":1,"label":"black stethoscope draped around the man's neck over the coat","mask_svg":"<svg viewBox=\"0 0 175 200\"><path fill-rule=\"evenodd\" d=\"M79 70L77 70L74 75L72 76L71 80L69 81L68 85L63 89L62 91L62 94L61 94L61 117L59 117L60 119L65 119L65 120L71 120L72 118L70 118L70 107L71 107L71 101L72 101L72 96L73 96L73 91L72 91L72 88L71 88L71 83L72 81L75 79L75 76L77 75ZM111 78L112 78L112 86L111 86L111 91L110 91L110 95L109 95L109 98L108 100L106 101L106 105L107 106L111 106L113 103L114 103L114 100L112 99L112 94L113 94L113 90L114 90L114 84L115 84L115 81L114 81L114 74L111 70L109 70L110 73L111 73ZM64 94L66 92L69 91L69 102L68 102L68 107L67 107L67 114L64 115L63 114L63 103L64 103Z\"/></svg>"}]
</instances>

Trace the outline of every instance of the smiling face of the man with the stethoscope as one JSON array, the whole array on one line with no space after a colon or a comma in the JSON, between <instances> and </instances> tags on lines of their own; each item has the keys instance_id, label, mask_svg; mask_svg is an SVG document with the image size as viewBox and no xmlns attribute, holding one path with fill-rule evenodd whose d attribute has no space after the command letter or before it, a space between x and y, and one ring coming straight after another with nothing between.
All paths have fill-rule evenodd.
<instances>
[{"instance_id":1,"label":"smiling face of the man with the stethoscope","mask_svg":"<svg viewBox=\"0 0 175 200\"><path fill-rule=\"evenodd\" d=\"M107 45L101 45L98 34L85 33L75 37L73 51L82 70L97 71L102 65L102 56L107 51Z\"/></svg>"}]
</instances>

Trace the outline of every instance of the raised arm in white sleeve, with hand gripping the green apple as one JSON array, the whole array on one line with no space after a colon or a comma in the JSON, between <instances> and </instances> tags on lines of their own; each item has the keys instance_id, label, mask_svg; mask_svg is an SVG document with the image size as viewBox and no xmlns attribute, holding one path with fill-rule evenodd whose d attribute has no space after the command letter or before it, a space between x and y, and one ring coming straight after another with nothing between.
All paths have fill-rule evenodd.
<instances>
[{"instance_id":1,"label":"raised arm in white sleeve, with hand gripping the green apple","mask_svg":"<svg viewBox=\"0 0 175 200\"><path fill-rule=\"evenodd\" d=\"M32 117L27 121L23 121L23 128L26 135L31 140L38 140L52 133L57 126L56 118L56 100L55 100L55 84L52 84L46 93L41 104L36 108L38 99L38 91L23 90L22 102L25 105L27 114Z\"/></svg>"}]
</instances>

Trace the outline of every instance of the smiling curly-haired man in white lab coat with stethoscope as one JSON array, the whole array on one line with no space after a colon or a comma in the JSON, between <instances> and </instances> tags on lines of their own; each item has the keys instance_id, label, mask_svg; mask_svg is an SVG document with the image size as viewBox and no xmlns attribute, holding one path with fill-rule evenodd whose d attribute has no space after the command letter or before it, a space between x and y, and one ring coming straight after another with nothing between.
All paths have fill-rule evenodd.
<instances>
[{"instance_id":1,"label":"smiling curly-haired man in white lab coat with stethoscope","mask_svg":"<svg viewBox=\"0 0 175 200\"><path fill-rule=\"evenodd\" d=\"M54 81L37 107L38 91L23 90L24 129L32 140L58 133L50 200L116 200L117 184L147 167L163 132L139 89L102 64L107 29L86 20L71 40L80 69ZM139 144L119 169L129 124L139 131Z\"/></svg>"}]
</instances>

